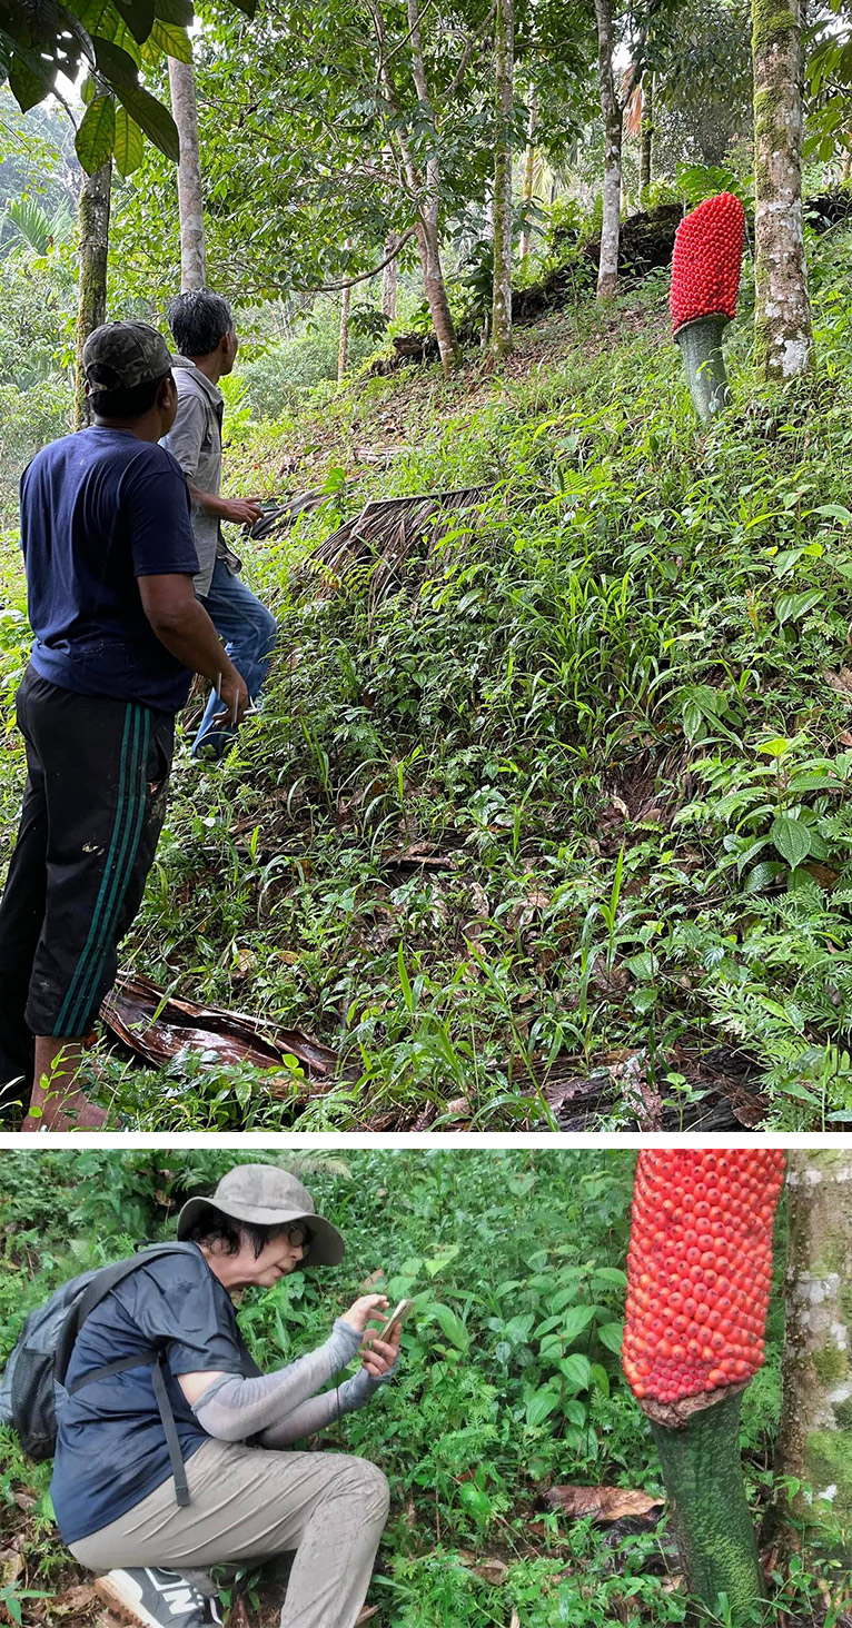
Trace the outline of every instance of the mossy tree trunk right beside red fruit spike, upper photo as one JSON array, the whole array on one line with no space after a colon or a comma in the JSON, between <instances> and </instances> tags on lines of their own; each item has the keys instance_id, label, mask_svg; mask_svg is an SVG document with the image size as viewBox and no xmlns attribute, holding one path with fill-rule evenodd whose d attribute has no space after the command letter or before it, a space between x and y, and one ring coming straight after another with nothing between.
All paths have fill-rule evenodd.
<instances>
[{"instance_id":1,"label":"mossy tree trunk right beside red fruit spike, upper photo","mask_svg":"<svg viewBox=\"0 0 852 1628\"><path fill-rule=\"evenodd\" d=\"M806 373L813 355L801 230L803 0L753 0L754 339L767 378Z\"/></svg>"}]
</instances>

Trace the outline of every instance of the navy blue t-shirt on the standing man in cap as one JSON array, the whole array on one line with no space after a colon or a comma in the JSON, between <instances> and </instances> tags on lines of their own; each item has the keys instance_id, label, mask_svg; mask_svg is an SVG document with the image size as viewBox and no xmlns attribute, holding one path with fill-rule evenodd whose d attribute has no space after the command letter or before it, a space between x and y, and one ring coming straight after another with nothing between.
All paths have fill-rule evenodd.
<instances>
[{"instance_id":1,"label":"navy blue t-shirt on the standing man in cap","mask_svg":"<svg viewBox=\"0 0 852 1628\"><path fill-rule=\"evenodd\" d=\"M80 695L179 711L191 672L153 632L137 576L194 575L189 490L178 461L129 430L78 430L21 480L33 666Z\"/></svg>"}]
</instances>

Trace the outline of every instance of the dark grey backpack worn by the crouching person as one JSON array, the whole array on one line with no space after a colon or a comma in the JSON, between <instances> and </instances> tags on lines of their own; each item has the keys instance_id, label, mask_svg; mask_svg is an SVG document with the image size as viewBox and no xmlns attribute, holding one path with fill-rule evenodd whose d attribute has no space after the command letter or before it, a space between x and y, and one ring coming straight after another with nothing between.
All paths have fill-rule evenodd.
<instances>
[{"instance_id":1,"label":"dark grey backpack worn by the crouching person","mask_svg":"<svg viewBox=\"0 0 852 1628\"><path fill-rule=\"evenodd\" d=\"M51 1459L55 1452L57 1439L57 1400L65 1394L65 1374L72 1359L73 1343L90 1312L114 1289L124 1278L145 1267L161 1255L195 1252L194 1244L152 1244L129 1260L117 1260L112 1267L101 1267L96 1271L83 1271L78 1278L64 1283L44 1306L29 1312L18 1343L0 1374L0 1424L11 1426L21 1447L31 1459ZM125 1368L150 1366L156 1407L163 1423L166 1444L169 1449L171 1473L179 1504L189 1503L186 1472L181 1444L174 1426L174 1415L168 1398L163 1374L163 1351L137 1351L134 1356L119 1358L116 1363L103 1363L78 1379L68 1395L77 1394L94 1379L106 1379L108 1374L119 1374Z\"/></svg>"}]
</instances>

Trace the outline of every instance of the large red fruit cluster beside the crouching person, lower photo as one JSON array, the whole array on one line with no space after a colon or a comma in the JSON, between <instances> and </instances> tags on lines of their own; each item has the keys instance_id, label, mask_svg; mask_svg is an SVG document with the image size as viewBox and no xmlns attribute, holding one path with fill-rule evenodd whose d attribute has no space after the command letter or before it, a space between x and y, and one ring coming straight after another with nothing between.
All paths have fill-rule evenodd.
<instances>
[{"instance_id":1,"label":"large red fruit cluster beside the crouching person, lower photo","mask_svg":"<svg viewBox=\"0 0 852 1628\"><path fill-rule=\"evenodd\" d=\"M743 1384L761 1368L772 1218L784 1162L780 1148L730 1149L725 1169L718 1154L704 1149L648 1148L639 1154L622 1348L624 1371L637 1397L648 1402L697 1397L723 1384ZM660 1224L663 1205L678 1192L689 1206L697 1187L709 1185L710 1174L720 1232L714 1249L687 1262L673 1254L671 1228ZM736 1263L736 1298L722 1317L710 1296L718 1301L715 1281L718 1273L730 1273L730 1262Z\"/></svg>"}]
</instances>

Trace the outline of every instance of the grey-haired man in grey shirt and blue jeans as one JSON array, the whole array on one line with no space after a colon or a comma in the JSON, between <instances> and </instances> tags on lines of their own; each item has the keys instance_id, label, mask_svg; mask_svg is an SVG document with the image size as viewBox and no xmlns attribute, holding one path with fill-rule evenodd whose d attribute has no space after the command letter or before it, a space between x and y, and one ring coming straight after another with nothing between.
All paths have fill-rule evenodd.
<instances>
[{"instance_id":1,"label":"grey-haired man in grey shirt and blue jeans","mask_svg":"<svg viewBox=\"0 0 852 1628\"><path fill-rule=\"evenodd\" d=\"M256 702L269 672L277 637L275 617L239 576L241 562L226 547L222 521L251 526L261 514L256 498L223 498L222 414L218 381L236 361L238 339L231 308L207 290L178 295L169 326L179 355L173 360L178 417L163 446L178 459L192 500L192 531L199 554L195 593L235 667ZM233 741L225 707L213 689L192 747L194 757L220 759Z\"/></svg>"}]
</instances>

